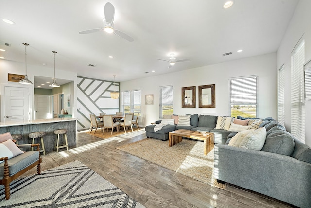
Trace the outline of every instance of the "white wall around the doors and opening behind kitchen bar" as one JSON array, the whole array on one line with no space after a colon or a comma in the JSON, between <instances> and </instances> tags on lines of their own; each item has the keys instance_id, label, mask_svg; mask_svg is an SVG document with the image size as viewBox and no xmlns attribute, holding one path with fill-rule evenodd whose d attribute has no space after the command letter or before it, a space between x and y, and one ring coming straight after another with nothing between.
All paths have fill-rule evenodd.
<instances>
[{"instance_id":1,"label":"white wall around the doors and opening behind kitchen bar","mask_svg":"<svg viewBox=\"0 0 311 208\"><path fill-rule=\"evenodd\" d=\"M37 65L30 65L27 64L27 75L28 75L28 79L31 80L34 83L34 76L45 76L45 77L52 77L53 74L53 68L49 68L46 66L37 66ZM72 80L73 86L77 86L77 73L76 72L71 72L71 71L65 71L64 70L60 70L60 69L56 69L55 70L55 75L56 75L56 79L67 79L67 80ZM8 81L8 73L11 74L18 74L18 75L25 75L25 64L24 63L19 63L19 62L15 62L15 61L9 61L9 60L2 60L0 59L0 100L1 100L1 117L0 117L0 121L4 121L4 117L2 115L4 115L4 86L7 85L17 85L20 86L19 83L15 83L15 82L9 82ZM66 77L66 78L64 78ZM74 115L76 113L76 108L74 106L75 104L75 100L77 100L77 96L76 96L76 87L73 87L73 95L71 95L71 99L72 99L72 114ZM31 112L32 109L34 109L34 85L32 85L30 87L30 108L31 108ZM66 95L65 95L66 96ZM2 118L3 117L3 118ZM32 119L33 116L31 116Z\"/></svg>"}]
</instances>

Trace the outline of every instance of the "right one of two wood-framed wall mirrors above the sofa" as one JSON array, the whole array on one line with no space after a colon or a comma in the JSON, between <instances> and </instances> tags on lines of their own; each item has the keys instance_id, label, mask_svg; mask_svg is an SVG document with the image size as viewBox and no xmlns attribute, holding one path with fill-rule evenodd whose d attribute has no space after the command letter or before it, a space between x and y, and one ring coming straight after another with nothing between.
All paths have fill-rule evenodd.
<instances>
[{"instance_id":1,"label":"right one of two wood-framed wall mirrors above the sofa","mask_svg":"<svg viewBox=\"0 0 311 208\"><path fill-rule=\"evenodd\" d=\"M199 86L199 108L215 108L215 84Z\"/></svg>"}]
</instances>

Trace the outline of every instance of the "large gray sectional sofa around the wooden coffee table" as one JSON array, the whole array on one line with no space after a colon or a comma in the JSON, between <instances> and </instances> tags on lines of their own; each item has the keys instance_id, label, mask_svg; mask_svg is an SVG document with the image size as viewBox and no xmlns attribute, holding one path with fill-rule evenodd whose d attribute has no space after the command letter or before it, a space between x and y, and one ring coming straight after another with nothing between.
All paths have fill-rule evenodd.
<instances>
[{"instance_id":1,"label":"large gray sectional sofa around the wooden coffee table","mask_svg":"<svg viewBox=\"0 0 311 208\"><path fill-rule=\"evenodd\" d=\"M244 119L238 116L239 119ZM158 122L159 123L159 122ZM264 119L267 136L261 151L229 146L237 132L214 129L217 116L191 115L191 126L167 125L154 132L147 126L146 136L167 140L176 129L213 132L214 177L239 187L276 198L294 206L311 207L311 149L294 138L277 121Z\"/></svg>"}]
</instances>

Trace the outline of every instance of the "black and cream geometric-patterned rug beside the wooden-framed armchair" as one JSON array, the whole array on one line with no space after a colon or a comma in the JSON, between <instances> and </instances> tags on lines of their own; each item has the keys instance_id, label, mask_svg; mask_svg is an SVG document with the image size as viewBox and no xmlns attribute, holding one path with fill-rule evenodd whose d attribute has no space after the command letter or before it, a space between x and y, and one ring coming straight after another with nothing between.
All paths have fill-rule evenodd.
<instances>
[{"instance_id":1,"label":"black and cream geometric-patterned rug beside the wooden-framed armchair","mask_svg":"<svg viewBox=\"0 0 311 208\"><path fill-rule=\"evenodd\" d=\"M15 180L10 188L5 200L0 186L1 208L145 208L79 161Z\"/></svg>"}]
</instances>

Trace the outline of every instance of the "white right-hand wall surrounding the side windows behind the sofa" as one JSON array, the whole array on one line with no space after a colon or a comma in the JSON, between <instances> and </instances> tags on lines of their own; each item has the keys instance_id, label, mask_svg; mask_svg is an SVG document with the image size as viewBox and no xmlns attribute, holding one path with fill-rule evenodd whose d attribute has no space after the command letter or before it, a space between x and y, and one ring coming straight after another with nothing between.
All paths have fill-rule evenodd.
<instances>
[{"instance_id":1,"label":"white right-hand wall surrounding the side windows behind the sofa","mask_svg":"<svg viewBox=\"0 0 311 208\"><path fill-rule=\"evenodd\" d=\"M285 127L291 131L291 52L299 38L305 40L305 62L311 59L311 0L300 0L277 51L277 69L285 69ZM311 147L311 101L306 101L306 144Z\"/></svg>"}]
</instances>

